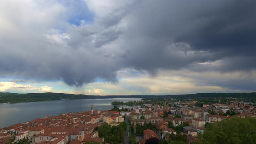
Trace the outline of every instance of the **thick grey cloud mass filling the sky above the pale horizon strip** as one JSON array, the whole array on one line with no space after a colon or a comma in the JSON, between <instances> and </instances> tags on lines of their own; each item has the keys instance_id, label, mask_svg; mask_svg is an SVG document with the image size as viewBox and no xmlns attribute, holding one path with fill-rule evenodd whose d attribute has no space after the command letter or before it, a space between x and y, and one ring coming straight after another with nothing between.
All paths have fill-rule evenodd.
<instances>
[{"instance_id":1,"label":"thick grey cloud mass filling the sky above the pale horizon strip","mask_svg":"<svg viewBox=\"0 0 256 144\"><path fill-rule=\"evenodd\" d=\"M72 12L72 3L24 5L0 3L1 77L82 85L97 78L116 82L124 68L152 74L256 68L253 0L92 0L81 1L84 12ZM93 21L69 23L81 13L91 13Z\"/></svg>"}]
</instances>

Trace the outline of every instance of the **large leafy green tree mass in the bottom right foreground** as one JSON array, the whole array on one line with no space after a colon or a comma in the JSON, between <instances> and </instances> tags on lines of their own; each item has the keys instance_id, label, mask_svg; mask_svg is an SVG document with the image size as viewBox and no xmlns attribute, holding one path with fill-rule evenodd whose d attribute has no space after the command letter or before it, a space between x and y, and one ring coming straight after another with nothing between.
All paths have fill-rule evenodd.
<instances>
[{"instance_id":1,"label":"large leafy green tree mass in the bottom right foreground","mask_svg":"<svg viewBox=\"0 0 256 144\"><path fill-rule=\"evenodd\" d=\"M203 144L254 144L256 118L232 118L210 124L200 136Z\"/></svg>"}]
</instances>

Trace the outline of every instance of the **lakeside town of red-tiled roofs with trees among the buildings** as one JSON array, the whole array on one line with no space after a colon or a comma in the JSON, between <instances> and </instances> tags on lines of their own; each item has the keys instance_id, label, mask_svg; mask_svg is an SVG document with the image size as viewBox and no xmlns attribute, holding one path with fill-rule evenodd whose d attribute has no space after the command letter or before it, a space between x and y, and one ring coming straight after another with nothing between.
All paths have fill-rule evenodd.
<instances>
[{"instance_id":1,"label":"lakeside town of red-tiled roofs with trees among the buildings","mask_svg":"<svg viewBox=\"0 0 256 144\"><path fill-rule=\"evenodd\" d=\"M230 97L144 98L112 102L114 108L106 111L94 110L92 105L90 111L1 128L0 144L191 144L218 121L255 119L255 103L244 101Z\"/></svg>"}]
</instances>

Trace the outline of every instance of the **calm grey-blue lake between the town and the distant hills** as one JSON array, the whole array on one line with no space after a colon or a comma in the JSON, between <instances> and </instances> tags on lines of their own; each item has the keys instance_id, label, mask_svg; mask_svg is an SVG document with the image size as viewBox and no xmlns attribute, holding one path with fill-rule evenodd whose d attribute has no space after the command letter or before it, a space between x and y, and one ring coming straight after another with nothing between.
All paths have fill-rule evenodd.
<instances>
[{"instance_id":1,"label":"calm grey-blue lake between the town and the distant hills","mask_svg":"<svg viewBox=\"0 0 256 144\"><path fill-rule=\"evenodd\" d=\"M141 101L141 98L106 98L0 104L0 128L66 112L109 110L112 101Z\"/></svg>"}]
</instances>

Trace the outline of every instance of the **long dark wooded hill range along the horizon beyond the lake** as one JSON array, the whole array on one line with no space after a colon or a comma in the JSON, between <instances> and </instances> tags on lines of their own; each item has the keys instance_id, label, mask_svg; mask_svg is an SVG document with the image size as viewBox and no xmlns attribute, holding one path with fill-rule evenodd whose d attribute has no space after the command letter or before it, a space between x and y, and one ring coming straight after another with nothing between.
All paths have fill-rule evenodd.
<instances>
[{"instance_id":1,"label":"long dark wooded hill range along the horizon beyond the lake","mask_svg":"<svg viewBox=\"0 0 256 144\"><path fill-rule=\"evenodd\" d=\"M92 98L213 98L213 97L233 97L233 98L252 98L256 99L256 92L252 93L197 93L187 95L74 95L65 93L28 93L16 94L0 92L0 103L19 103L34 101L54 101L63 99L92 99Z\"/></svg>"}]
</instances>

